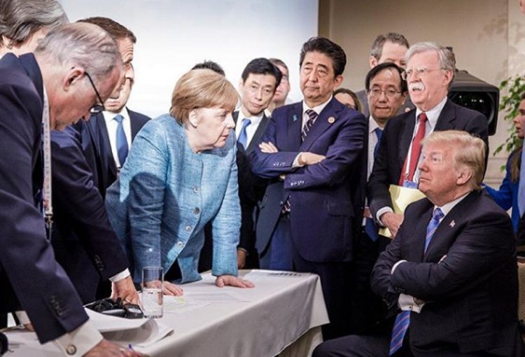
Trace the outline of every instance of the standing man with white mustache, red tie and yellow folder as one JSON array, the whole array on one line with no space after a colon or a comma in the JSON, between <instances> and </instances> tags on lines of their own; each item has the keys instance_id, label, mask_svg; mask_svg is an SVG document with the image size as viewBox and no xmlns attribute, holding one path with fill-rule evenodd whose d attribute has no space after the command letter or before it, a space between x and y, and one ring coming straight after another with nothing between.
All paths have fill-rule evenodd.
<instances>
[{"instance_id":1,"label":"standing man with white mustache, red tie and yellow folder","mask_svg":"<svg viewBox=\"0 0 525 357\"><path fill-rule=\"evenodd\" d=\"M464 130L481 137L488 147L486 117L447 99L456 71L454 53L437 43L420 42L409 48L406 59L403 79L416 109L388 120L367 186L372 217L392 238L403 215L393 212L388 186L417 188L423 137L433 131Z\"/></svg>"}]
</instances>

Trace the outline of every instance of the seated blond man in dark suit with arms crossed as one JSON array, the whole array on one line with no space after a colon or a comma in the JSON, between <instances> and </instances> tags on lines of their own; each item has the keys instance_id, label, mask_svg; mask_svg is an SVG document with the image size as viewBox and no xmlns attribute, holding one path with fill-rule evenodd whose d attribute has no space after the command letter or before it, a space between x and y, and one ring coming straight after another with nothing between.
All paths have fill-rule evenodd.
<instances>
[{"instance_id":1,"label":"seated blond man in dark suit with arms crossed","mask_svg":"<svg viewBox=\"0 0 525 357\"><path fill-rule=\"evenodd\" d=\"M419 189L381 253L372 289L389 315L377 330L328 341L314 357L524 355L509 216L481 190L485 144L456 130L423 141Z\"/></svg>"}]
</instances>

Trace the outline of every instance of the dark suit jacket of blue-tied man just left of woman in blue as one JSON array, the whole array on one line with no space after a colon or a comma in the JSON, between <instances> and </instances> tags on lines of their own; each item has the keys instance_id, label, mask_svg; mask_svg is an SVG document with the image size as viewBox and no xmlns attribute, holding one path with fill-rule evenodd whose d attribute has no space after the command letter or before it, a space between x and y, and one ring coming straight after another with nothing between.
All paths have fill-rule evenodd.
<instances>
[{"instance_id":1,"label":"dark suit jacket of blue-tied man just left of woman in blue","mask_svg":"<svg viewBox=\"0 0 525 357\"><path fill-rule=\"evenodd\" d=\"M134 140L135 135L150 118L129 109L127 112L130 114L132 140ZM117 167L113 159L113 153L111 153L111 144L104 115L98 113L91 116L87 123L77 125L77 130L81 133L80 140L82 141L87 164L90 165L94 172L94 182L99 188L102 197L106 197L106 189L117 179Z\"/></svg>"}]
</instances>

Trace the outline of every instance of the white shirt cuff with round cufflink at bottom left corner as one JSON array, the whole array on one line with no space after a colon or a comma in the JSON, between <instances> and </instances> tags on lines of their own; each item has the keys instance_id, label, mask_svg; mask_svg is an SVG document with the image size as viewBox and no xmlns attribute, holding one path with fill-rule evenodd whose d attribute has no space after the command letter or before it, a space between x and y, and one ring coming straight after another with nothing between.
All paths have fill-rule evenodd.
<instances>
[{"instance_id":1,"label":"white shirt cuff with round cufflink at bottom left corner","mask_svg":"<svg viewBox=\"0 0 525 357\"><path fill-rule=\"evenodd\" d=\"M91 321L87 320L75 330L58 337L53 343L66 356L83 356L102 341L102 335Z\"/></svg>"}]
</instances>

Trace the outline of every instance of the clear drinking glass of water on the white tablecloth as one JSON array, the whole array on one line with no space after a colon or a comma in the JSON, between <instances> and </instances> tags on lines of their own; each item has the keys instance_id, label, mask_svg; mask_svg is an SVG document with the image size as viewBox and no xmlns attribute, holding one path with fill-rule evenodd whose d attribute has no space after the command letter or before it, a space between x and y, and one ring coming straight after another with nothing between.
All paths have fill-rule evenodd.
<instances>
[{"instance_id":1,"label":"clear drinking glass of water on the white tablecloth","mask_svg":"<svg viewBox=\"0 0 525 357\"><path fill-rule=\"evenodd\" d=\"M142 269L142 311L146 318L162 317L164 272L162 267Z\"/></svg>"}]
</instances>

